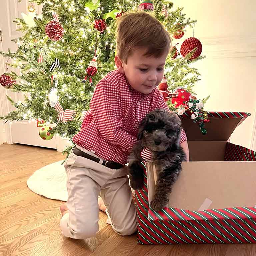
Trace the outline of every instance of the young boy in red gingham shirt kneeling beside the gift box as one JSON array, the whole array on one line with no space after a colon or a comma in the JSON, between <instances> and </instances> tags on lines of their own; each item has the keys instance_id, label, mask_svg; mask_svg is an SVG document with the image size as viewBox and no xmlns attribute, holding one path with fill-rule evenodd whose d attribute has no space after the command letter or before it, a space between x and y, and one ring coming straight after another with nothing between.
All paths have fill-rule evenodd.
<instances>
[{"instance_id":1,"label":"young boy in red gingham shirt kneeling beside the gift box","mask_svg":"<svg viewBox=\"0 0 256 256\"><path fill-rule=\"evenodd\" d=\"M99 195L118 234L137 230L125 164L141 120L156 108L168 108L156 88L171 47L161 23L143 11L123 15L116 46L117 70L97 85L81 130L73 137L76 147L65 162L68 200L61 206L60 225L64 236L75 239L98 231ZM188 155L185 133L182 138Z\"/></svg>"}]
</instances>

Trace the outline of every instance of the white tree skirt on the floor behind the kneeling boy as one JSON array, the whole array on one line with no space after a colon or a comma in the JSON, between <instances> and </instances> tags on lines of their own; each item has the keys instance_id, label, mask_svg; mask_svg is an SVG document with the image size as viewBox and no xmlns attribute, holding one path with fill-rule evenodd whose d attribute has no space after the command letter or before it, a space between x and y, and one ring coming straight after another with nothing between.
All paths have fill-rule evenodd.
<instances>
[{"instance_id":1,"label":"white tree skirt on the floor behind the kneeling boy","mask_svg":"<svg viewBox=\"0 0 256 256\"><path fill-rule=\"evenodd\" d=\"M67 175L61 163L55 162L35 171L27 180L29 189L50 199L67 201Z\"/></svg>"}]
</instances>

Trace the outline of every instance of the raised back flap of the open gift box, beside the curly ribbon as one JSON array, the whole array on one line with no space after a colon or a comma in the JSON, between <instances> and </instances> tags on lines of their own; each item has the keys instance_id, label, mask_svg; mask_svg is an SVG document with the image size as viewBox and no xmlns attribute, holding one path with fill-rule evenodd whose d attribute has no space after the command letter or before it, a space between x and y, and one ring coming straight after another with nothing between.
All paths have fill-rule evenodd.
<instances>
[{"instance_id":1,"label":"raised back flap of the open gift box, beside the curly ribbon","mask_svg":"<svg viewBox=\"0 0 256 256\"><path fill-rule=\"evenodd\" d=\"M210 122L205 123L206 135L202 135L197 123L191 120L190 111L186 111L181 116L188 141L227 141L235 128L250 116L250 113L245 112L207 112L207 114Z\"/></svg>"}]
</instances>

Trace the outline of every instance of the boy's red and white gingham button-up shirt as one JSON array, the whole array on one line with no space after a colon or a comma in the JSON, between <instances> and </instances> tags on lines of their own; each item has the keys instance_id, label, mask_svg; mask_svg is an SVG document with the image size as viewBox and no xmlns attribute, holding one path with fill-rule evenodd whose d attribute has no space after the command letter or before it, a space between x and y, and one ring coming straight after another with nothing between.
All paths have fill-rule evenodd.
<instances>
[{"instance_id":1,"label":"boy's red and white gingham button-up shirt","mask_svg":"<svg viewBox=\"0 0 256 256\"><path fill-rule=\"evenodd\" d=\"M105 160L126 164L137 142L138 125L156 108L168 109L157 88L142 94L130 86L125 75L111 71L96 86L81 130L72 140ZM181 142L185 140L183 132Z\"/></svg>"}]
</instances>

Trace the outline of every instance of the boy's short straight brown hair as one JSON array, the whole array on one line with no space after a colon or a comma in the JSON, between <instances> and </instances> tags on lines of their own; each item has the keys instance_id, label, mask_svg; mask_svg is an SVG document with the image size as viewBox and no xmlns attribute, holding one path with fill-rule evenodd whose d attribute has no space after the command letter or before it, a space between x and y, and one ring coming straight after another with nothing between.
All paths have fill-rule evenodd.
<instances>
[{"instance_id":1,"label":"boy's short straight brown hair","mask_svg":"<svg viewBox=\"0 0 256 256\"><path fill-rule=\"evenodd\" d=\"M160 57L170 51L171 38L163 25L145 11L121 16L116 29L116 53L127 62L132 51L146 48L145 56Z\"/></svg>"}]
</instances>

